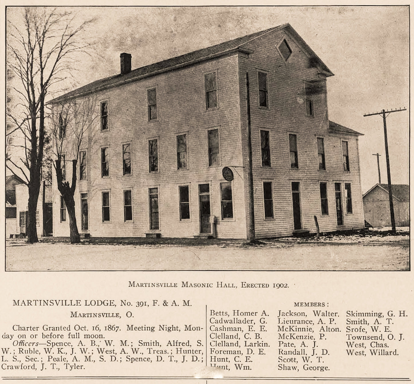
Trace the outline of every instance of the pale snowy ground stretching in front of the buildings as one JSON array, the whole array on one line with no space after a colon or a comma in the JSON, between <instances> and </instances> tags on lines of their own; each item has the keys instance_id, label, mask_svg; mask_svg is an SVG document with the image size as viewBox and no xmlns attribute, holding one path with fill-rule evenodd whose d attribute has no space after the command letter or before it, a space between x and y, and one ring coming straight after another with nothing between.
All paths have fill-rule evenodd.
<instances>
[{"instance_id":1,"label":"pale snowy ground stretching in front of the buildings","mask_svg":"<svg viewBox=\"0 0 414 384\"><path fill-rule=\"evenodd\" d=\"M7 239L6 270L409 270L409 232L296 238Z\"/></svg>"}]
</instances>

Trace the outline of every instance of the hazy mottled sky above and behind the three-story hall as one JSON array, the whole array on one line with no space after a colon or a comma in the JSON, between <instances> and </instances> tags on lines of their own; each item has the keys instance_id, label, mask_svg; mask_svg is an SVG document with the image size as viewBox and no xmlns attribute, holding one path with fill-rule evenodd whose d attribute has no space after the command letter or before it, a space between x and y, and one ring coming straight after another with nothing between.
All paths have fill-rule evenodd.
<instances>
[{"instance_id":1,"label":"hazy mottled sky above and behind the three-story hall","mask_svg":"<svg viewBox=\"0 0 414 384\"><path fill-rule=\"evenodd\" d=\"M392 184L409 182L409 8L368 7L67 7L74 22L96 17L84 39L91 56L79 57L77 86L116 75L119 54L132 69L223 41L290 23L335 74L327 80L329 119L359 138L362 192L387 183L382 109L387 117ZM21 8L8 8L17 20ZM73 85L72 85L73 87ZM54 96L57 96L55 94Z\"/></svg>"}]
</instances>

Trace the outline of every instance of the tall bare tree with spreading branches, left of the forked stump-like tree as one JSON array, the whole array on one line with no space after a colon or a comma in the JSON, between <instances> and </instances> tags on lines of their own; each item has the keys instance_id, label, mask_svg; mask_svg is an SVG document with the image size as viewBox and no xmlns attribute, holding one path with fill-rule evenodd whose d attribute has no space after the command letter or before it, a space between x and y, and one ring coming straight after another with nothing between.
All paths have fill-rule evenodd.
<instances>
[{"instance_id":1,"label":"tall bare tree with spreading branches, left of the forked stump-like tree","mask_svg":"<svg viewBox=\"0 0 414 384\"><path fill-rule=\"evenodd\" d=\"M11 85L17 104L7 110L12 125L9 135L19 133L21 155L10 154L6 167L22 177L29 188L27 241L38 241L36 206L39 198L45 149L45 101L58 82L74 70L75 56L86 52L88 44L81 32L93 20L77 27L71 12L59 8L26 7L23 24L7 23L7 69L17 82ZM15 140L13 140L16 142ZM17 149L17 148L16 148Z\"/></svg>"}]
</instances>

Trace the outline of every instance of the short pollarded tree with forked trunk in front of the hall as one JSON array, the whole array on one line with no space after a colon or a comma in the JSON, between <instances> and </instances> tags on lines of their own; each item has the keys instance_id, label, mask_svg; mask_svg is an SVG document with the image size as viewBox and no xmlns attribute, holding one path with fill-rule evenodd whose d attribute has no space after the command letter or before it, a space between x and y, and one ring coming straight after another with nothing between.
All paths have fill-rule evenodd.
<instances>
[{"instance_id":1,"label":"short pollarded tree with forked trunk in front of the hall","mask_svg":"<svg viewBox=\"0 0 414 384\"><path fill-rule=\"evenodd\" d=\"M82 142L87 134L91 136L91 126L99 114L96 112L94 97L84 97L76 101L67 100L53 104L53 167L56 172L58 191L65 200L69 216L70 242L80 242L75 214L75 190L77 182L77 164L79 178L86 178L84 152L80 152ZM89 132L88 132L89 130ZM71 157L71 159L69 158ZM71 183L66 181L66 164L72 162Z\"/></svg>"}]
</instances>

